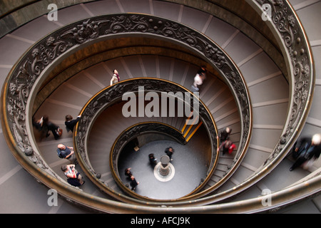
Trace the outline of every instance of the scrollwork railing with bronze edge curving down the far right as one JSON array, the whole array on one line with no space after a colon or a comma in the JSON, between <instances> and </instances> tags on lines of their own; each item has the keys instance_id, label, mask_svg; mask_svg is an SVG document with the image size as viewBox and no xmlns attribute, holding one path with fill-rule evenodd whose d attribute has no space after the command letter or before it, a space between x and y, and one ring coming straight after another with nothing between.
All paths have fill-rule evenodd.
<instances>
[{"instance_id":1,"label":"scrollwork railing with bronze edge curving down the far right","mask_svg":"<svg viewBox=\"0 0 321 228\"><path fill-rule=\"evenodd\" d=\"M267 23L279 36L281 51L287 58L290 81L290 106L282 137L262 168L276 164L290 150L299 136L310 110L315 85L312 54L304 28L287 1L255 0L253 7L267 17ZM266 7L266 8L265 8ZM269 12L263 12L269 9ZM279 160L280 161L280 160ZM258 169L260 172L261 169Z\"/></svg>"}]
</instances>

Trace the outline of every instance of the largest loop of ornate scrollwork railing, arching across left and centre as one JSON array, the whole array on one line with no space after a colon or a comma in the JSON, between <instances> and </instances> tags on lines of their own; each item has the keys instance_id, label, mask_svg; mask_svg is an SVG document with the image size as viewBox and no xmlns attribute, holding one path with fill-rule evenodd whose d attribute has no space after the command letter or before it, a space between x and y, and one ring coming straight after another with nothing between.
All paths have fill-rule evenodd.
<instances>
[{"instance_id":1,"label":"largest loop of ornate scrollwork railing, arching across left and centre","mask_svg":"<svg viewBox=\"0 0 321 228\"><path fill-rule=\"evenodd\" d=\"M31 107L37 90L55 64L63 61L63 58L73 51L81 49L82 45L90 45L115 35L132 34L165 38L190 48L206 59L225 78L238 104L242 129L238 159L235 159L235 165L229 173L232 173L242 160L251 133L250 99L238 68L216 43L192 28L156 16L143 14L97 16L63 26L36 42L15 64L4 83L1 94L1 123L6 141L11 150L14 150L17 160L21 164L24 163L26 170L39 181L46 182L47 186L52 184L48 182L47 175L58 177L41 157L32 133ZM44 172L37 171L39 168ZM58 183L54 184L59 188Z\"/></svg>"}]
</instances>

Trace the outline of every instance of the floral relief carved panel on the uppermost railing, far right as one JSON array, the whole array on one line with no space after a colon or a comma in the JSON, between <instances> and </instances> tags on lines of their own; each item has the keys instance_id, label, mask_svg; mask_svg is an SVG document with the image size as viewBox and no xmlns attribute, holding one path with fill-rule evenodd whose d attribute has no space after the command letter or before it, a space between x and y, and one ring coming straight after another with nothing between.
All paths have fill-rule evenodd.
<instances>
[{"instance_id":1,"label":"floral relief carved panel on the uppermost railing, far right","mask_svg":"<svg viewBox=\"0 0 321 228\"><path fill-rule=\"evenodd\" d=\"M292 64L293 68L292 81L294 90L292 91L290 120L286 126L285 134L280 138L278 145L272 152L272 156L265 162L268 163L275 157L275 154L280 153L285 148L286 142L292 138L305 115L308 99L312 93L312 61L308 53L309 47L305 41L304 31L300 28L300 23L287 2L284 0L256 1L260 6L270 4L272 24L285 43L287 53L290 56L290 64Z\"/></svg>"}]
</instances>

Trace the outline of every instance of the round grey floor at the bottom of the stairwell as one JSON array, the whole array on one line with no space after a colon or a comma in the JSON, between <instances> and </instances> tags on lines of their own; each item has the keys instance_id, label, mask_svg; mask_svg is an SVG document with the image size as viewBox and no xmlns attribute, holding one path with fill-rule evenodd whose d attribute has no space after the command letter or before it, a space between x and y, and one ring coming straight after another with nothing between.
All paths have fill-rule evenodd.
<instances>
[{"instance_id":1,"label":"round grey floor at the bottom of the stairwell","mask_svg":"<svg viewBox=\"0 0 321 228\"><path fill-rule=\"evenodd\" d=\"M205 179L208 171L205 150L195 150L195 140L203 140L203 144L208 142L202 135L202 130L198 131L198 136L193 136L186 145L171 140L158 140L143 145L138 151L133 149L121 153L118 160L119 174L121 180L126 185L130 183L128 177L124 175L124 170L131 167L131 172L136 177L139 185L135 192L138 195L150 197L152 199L177 199L184 197L198 187L202 179ZM204 134L204 133L203 133ZM200 145L200 144L197 144ZM160 162L161 157L165 155L165 148L173 147L173 160L170 161L170 180L160 180L157 170L150 164L148 155L153 153ZM157 168L157 167L156 167Z\"/></svg>"}]
</instances>

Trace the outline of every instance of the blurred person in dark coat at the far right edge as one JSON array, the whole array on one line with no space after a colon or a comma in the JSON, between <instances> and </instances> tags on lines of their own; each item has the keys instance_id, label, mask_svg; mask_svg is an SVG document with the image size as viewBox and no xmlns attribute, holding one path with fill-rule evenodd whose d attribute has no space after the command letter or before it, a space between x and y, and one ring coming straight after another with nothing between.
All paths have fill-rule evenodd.
<instances>
[{"instance_id":1,"label":"blurred person in dark coat at the far right edge","mask_svg":"<svg viewBox=\"0 0 321 228\"><path fill-rule=\"evenodd\" d=\"M310 160L317 160L320 157L321 135L315 134L311 138L302 138L299 142L295 142L292 150L292 157L295 158L294 164L290 167L290 171L303 165Z\"/></svg>"}]
</instances>

